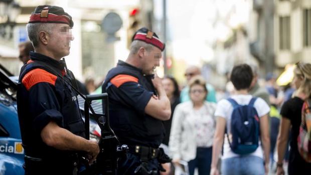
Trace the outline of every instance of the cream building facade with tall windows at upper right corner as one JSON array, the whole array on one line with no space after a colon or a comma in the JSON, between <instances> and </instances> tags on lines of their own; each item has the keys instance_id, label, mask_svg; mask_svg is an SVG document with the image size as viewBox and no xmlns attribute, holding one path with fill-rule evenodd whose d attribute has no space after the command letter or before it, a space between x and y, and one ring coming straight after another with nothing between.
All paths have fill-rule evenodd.
<instances>
[{"instance_id":1,"label":"cream building facade with tall windows at upper right corner","mask_svg":"<svg viewBox=\"0 0 311 175\"><path fill-rule=\"evenodd\" d=\"M310 62L311 1L276 1L274 25L276 65Z\"/></svg>"}]
</instances>

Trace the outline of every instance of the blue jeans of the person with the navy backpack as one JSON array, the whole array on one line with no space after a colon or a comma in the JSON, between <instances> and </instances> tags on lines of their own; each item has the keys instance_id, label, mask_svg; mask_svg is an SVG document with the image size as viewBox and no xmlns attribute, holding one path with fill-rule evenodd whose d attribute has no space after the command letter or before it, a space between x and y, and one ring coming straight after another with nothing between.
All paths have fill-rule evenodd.
<instances>
[{"instance_id":1,"label":"blue jeans of the person with the navy backpack","mask_svg":"<svg viewBox=\"0 0 311 175\"><path fill-rule=\"evenodd\" d=\"M253 155L223 159L221 162L221 172L223 175L265 174L263 159Z\"/></svg>"}]
</instances>

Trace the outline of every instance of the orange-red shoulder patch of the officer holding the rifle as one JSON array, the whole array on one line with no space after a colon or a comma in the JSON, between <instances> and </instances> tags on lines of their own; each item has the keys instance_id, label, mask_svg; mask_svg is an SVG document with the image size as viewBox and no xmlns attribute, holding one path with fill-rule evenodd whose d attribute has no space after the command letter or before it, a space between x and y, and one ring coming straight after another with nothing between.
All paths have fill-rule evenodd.
<instances>
[{"instance_id":1,"label":"orange-red shoulder patch of the officer holding the rifle","mask_svg":"<svg viewBox=\"0 0 311 175\"><path fill-rule=\"evenodd\" d=\"M23 78L22 83L29 90L31 87L37 83L46 82L55 86L57 76L43 70L43 69L34 69L29 71Z\"/></svg>"}]
</instances>

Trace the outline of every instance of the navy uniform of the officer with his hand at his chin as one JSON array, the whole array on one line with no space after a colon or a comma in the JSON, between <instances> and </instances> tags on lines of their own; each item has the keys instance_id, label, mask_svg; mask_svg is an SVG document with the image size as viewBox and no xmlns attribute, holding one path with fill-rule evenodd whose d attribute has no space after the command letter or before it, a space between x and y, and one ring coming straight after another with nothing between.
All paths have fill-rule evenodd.
<instances>
[{"instance_id":1,"label":"navy uniform of the officer with his hand at his chin","mask_svg":"<svg viewBox=\"0 0 311 175\"><path fill-rule=\"evenodd\" d=\"M151 75L143 75L140 69L123 61L106 76L102 91L108 93L110 125L121 144L158 148L163 141L163 122L144 112L152 95L156 95L151 79ZM129 153L127 159L120 160L118 174L133 174L139 164L138 155ZM156 158L148 164L158 169Z\"/></svg>"}]
</instances>

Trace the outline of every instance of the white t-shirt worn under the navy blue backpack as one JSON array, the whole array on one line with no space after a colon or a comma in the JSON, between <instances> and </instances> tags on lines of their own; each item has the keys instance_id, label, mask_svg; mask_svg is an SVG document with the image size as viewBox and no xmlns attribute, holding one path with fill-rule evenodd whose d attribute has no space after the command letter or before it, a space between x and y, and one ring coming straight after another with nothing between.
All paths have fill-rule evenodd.
<instances>
[{"instance_id":1,"label":"white t-shirt worn under the navy blue backpack","mask_svg":"<svg viewBox=\"0 0 311 175\"><path fill-rule=\"evenodd\" d=\"M247 105L247 104L249 104L250 100L252 99L252 95L232 95L231 98L234 99L240 105ZM262 116L268 114L270 111L270 107L268 106L268 104L261 98L257 98L257 100L254 103L254 107L257 110L259 117L262 117ZM233 111L233 107L228 100L222 99L217 103L215 116L216 117L223 117L226 119L227 131L230 131L232 111ZM259 143L259 146L256 149L256 151L250 153L250 155L254 155L254 156L258 156L260 158L263 158L263 150L261 148L260 143ZM236 157L236 156L239 156L239 154L232 152L232 150L229 146L229 143L228 143L228 138L225 138L224 139L224 154L222 156L222 159Z\"/></svg>"}]
</instances>

